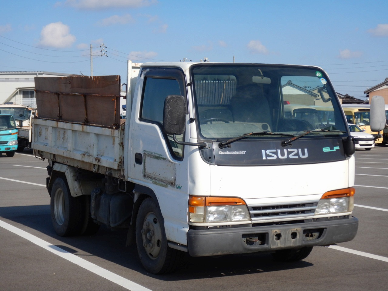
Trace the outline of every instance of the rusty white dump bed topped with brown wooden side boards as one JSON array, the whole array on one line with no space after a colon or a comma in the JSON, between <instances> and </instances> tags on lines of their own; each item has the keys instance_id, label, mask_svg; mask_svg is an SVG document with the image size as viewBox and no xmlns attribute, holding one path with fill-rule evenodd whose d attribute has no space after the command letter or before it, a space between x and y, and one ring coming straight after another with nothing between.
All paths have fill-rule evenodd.
<instances>
[{"instance_id":1,"label":"rusty white dump bed topped with brown wooden side boards","mask_svg":"<svg viewBox=\"0 0 388 291\"><path fill-rule=\"evenodd\" d=\"M36 77L35 156L123 177L120 76Z\"/></svg>"}]
</instances>

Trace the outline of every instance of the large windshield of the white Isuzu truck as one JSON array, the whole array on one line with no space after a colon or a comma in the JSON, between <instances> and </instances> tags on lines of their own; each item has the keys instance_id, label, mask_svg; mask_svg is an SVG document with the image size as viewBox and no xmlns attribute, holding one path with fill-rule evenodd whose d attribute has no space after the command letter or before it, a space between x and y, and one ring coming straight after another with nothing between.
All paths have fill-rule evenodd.
<instances>
[{"instance_id":1,"label":"large windshield of the white Isuzu truck","mask_svg":"<svg viewBox=\"0 0 388 291\"><path fill-rule=\"evenodd\" d=\"M327 76L318 68L261 64L192 67L201 139L343 135L346 123ZM278 133L271 135L260 132ZM255 134L256 133L256 134Z\"/></svg>"}]
</instances>

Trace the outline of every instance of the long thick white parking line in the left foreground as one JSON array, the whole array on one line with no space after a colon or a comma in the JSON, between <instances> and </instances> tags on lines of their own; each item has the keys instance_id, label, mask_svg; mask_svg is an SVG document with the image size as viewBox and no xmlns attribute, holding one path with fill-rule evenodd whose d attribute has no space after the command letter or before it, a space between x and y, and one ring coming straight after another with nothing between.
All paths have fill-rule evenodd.
<instances>
[{"instance_id":1,"label":"long thick white parking line in the left foreground","mask_svg":"<svg viewBox=\"0 0 388 291\"><path fill-rule=\"evenodd\" d=\"M3 227L6 230L9 230L10 232L13 232L14 234L17 234L18 236L23 237L24 239L27 239L28 241L36 244L37 246L40 246L41 248L50 251L54 253L57 256L60 256L61 258L64 258L65 260L68 260L69 262L72 262L86 270L89 270L90 272L99 275L100 277L103 277L113 283L116 283L125 289L131 290L131 291L151 291L150 289L147 289L139 284L136 284L135 282L132 282L128 279L125 279L124 277L121 277L117 274L114 274L113 272L110 272L104 268L101 268L93 263L88 262L87 260L84 260L76 255L73 255L72 253L69 253L65 251L64 249L58 248L57 246L54 246L53 244L50 244L47 241L43 241L43 239L40 239L39 237L33 236L32 234L29 234L28 232L25 232L24 230L18 229L17 227L14 227L13 225L10 225L9 223L3 222L0 220L0 227Z\"/></svg>"}]
</instances>

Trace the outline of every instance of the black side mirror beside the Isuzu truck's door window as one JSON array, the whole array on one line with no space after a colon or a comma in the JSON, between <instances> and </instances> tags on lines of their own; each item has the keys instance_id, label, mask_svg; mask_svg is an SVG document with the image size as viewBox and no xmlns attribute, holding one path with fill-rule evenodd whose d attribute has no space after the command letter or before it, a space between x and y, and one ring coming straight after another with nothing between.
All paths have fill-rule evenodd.
<instances>
[{"instance_id":1,"label":"black side mirror beside the Isuzu truck's door window","mask_svg":"<svg viewBox=\"0 0 388 291\"><path fill-rule=\"evenodd\" d=\"M180 135L185 132L187 104L181 95L168 95L163 108L163 131Z\"/></svg>"}]
</instances>

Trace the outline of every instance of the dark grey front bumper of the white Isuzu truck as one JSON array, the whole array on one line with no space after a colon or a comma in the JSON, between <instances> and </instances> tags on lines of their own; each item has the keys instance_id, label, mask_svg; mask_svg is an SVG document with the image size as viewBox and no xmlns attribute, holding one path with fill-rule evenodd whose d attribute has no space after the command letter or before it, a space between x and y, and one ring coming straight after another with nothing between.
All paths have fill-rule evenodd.
<instances>
[{"instance_id":1,"label":"dark grey front bumper of the white Isuzu truck","mask_svg":"<svg viewBox=\"0 0 388 291\"><path fill-rule=\"evenodd\" d=\"M277 249L326 246L351 241L357 234L355 217L258 227L237 227L187 232L187 246L191 256L215 256L256 253Z\"/></svg>"}]
</instances>

